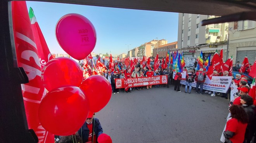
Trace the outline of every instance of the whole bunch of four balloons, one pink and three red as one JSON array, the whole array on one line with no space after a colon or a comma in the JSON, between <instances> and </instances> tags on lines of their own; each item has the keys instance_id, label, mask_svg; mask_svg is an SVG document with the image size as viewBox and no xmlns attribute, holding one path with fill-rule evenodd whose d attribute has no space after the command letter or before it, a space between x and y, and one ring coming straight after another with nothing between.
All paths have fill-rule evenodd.
<instances>
[{"instance_id":1,"label":"whole bunch of four balloons, one pink and three red","mask_svg":"<svg viewBox=\"0 0 256 143\"><path fill-rule=\"evenodd\" d=\"M62 49L78 60L87 57L96 43L92 23L76 13L61 17L56 37ZM83 81L81 66L71 58L47 62L41 77L49 92L40 103L38 116L43 128L54 135L74 134L85 123L89 111L100 111L111 98L109 81L98 75Z\"/></svg>"}]
</instances>

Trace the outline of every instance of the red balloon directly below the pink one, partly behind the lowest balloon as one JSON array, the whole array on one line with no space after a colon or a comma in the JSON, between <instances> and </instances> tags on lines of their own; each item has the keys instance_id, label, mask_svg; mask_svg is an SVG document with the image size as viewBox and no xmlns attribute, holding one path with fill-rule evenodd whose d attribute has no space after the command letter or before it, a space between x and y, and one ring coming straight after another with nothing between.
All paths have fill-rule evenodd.
<instances>
[{"instance_id":1,"label":"red balloon directly below the pink one, partly behind the lowest balloon","mask_svg":"<svg viewBox=\"0 0 256 143\"><path fill-rule=\"evenodd\" d=\"M83 70L73 59L58 57L45 64L41 77L48 91L63 86L79 87L83 81Z\"/></svg>"}]
</instances>

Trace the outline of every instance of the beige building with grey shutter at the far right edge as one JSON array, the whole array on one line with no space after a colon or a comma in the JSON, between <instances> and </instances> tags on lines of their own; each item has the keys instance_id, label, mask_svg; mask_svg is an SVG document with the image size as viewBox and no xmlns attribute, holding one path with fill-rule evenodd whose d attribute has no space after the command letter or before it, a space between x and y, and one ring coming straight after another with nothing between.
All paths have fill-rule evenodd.
<instances>
[{"instance_id":1,"label":"beige building with grey shutter at the far right edge","mask_svg":"<svg viewBox=\"0 0 256 143\"><path fill-rule=\"evenodd\" d=\"M228 55L233 56L233 63L244 61L247 56L253 64L256 57L256 22L243 20L230 22L228 27Z\"/></svg>"}]
</instances>

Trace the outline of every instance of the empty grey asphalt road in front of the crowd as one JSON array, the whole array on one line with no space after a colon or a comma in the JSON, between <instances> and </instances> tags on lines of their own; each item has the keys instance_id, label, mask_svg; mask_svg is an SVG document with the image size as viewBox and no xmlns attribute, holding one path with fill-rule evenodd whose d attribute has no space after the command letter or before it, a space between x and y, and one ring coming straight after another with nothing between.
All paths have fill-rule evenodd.
<instances>
[{"instance_id":1,"label":"empty grey asphalt road in front of the crowd","mask_svg":"<svg viewBox=\"0 0 256 143\"><path fill-rule=\"evenodd\" d=\"M171 85L112 94L95 114L113 143L221 143L228 100Z\"/></svg>"}]
</instances>

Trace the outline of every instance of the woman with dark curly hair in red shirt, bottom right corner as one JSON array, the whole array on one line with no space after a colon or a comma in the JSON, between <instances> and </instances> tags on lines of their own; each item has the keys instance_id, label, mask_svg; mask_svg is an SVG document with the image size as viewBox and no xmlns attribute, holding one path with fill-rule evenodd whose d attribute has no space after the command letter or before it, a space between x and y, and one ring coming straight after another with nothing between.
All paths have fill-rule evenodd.
<instances>
[{"instance_id":1,"label":"woman with dark curly hair in red shirt, bottom right corner","mask_svg":"<svg viewBox=\"0 0 256 143\"><path fill-rule=\"evenodd\" d=\"M225 143L242 143L248 118L246 112L240 105L232 105L229 108L231 119L227 121L226 130L223 132Z\"/></svg>"}]
</instances>

